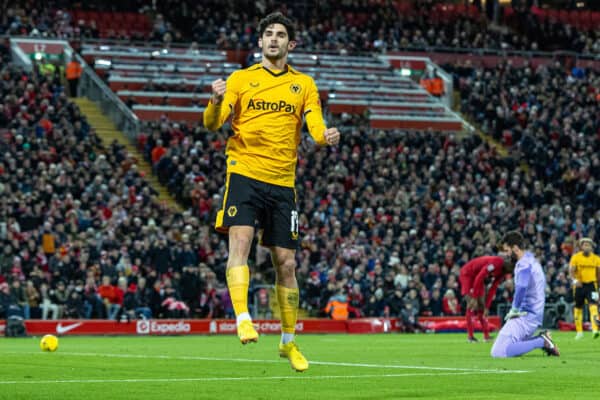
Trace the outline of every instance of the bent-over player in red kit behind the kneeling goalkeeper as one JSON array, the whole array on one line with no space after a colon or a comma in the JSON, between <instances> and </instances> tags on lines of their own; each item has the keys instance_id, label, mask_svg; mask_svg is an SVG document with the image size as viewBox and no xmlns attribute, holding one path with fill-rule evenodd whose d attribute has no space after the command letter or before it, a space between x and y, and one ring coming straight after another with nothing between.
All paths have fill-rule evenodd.
<instances>
[{"instance_id":1,"label":"bent-over player in red kit behind the kneeling goalkeeper","mask_svg":"<svg viewBox=\"0 0 600 400\"><path fill-rule=\"evenodd\" d=\"M506 274L513 271L514 265L508 258L500 256L477 257L463 265L460 269L461 294L467 302L467 335L469 342L477 342L473 336L473 316L477 315L483 330L484 340L490 339L490 329L487 314L496 296L496 289L504 280ZM491 286L485 290L486 281L491 280Z\"/></svg>"}]
</instances>

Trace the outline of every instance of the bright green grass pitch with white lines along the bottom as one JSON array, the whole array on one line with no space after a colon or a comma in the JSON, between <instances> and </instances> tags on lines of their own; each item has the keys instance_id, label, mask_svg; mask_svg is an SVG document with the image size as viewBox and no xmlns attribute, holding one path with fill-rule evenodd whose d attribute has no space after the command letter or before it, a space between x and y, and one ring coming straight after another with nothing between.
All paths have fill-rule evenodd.
<instances>
[{"instance_id":1,"label":"bright green grass pitch with white lines along the bottom","mask_svg":"<svg viewBox=\"0 0 600 400\"><path fill-rule=\"evenodd\" d=\"M600 339L554 333L541 350L492 359L465 334L301 335L311 361L291 370L279 337L242 346L234 336L0 339L0 399L593 399Z\"/></svg>"}]
</instances>

